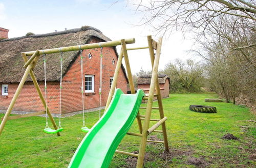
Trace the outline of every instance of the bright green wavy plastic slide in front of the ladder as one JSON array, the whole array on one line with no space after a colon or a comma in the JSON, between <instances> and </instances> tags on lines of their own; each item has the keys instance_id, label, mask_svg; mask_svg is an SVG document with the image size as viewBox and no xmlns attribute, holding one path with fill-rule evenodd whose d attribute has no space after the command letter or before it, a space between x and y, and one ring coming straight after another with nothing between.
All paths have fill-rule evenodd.
<instances>
[{"instance_id":1,"label":"bright green wavy plastic slide in front of the ladder","mask_svg":"<svg viewBox=\"0 0 256 168\"><path fill-rule=\"evenodd\" d=\"M143 96L142 90L137 94L124 94L116 89L108 109L82 139L69 167L108 167L137 116Z\"/></svg>"}]
</instances>

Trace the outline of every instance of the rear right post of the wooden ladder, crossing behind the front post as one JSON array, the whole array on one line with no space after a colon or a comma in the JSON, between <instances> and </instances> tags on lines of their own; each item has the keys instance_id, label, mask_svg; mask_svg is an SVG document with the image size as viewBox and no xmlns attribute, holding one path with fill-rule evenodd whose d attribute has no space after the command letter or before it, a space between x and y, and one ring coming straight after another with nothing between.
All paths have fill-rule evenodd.
<instances>
[{"instance_id":1,"label":"rear right post of the wooden ladder, crossing behind the front post","mask_svg":"<svg viewBox=\"0 0 256 168\"><path fill-rule=\"evenodd\" d=\"M147 43L148 43L148 48L150 49L150 58L151 58L151 64L152 68L154 67L154 60L155 60L155 55L154 55L154 48L153 48L153 39L151 36L147 36ZM159 44L157 44L158 46ZM162 43L161 43L162 45ZM164 111L163 111L163 103L162 103L162 97L161 97L161 91L160 91L160 86L159 86L159 79L158 79L158 74L156 77L156 94L157 94L157 102L158 102L158 108L159 108L159 114L160 114L160 119L164 118ZM168 139L167 139L167 131L166 131L166 126L165 123L162 125L162 130L163 130L163 139L164 139L164 147L165 151L169 151L169 146L168 146Z\"/></svg>"}]
</instances>

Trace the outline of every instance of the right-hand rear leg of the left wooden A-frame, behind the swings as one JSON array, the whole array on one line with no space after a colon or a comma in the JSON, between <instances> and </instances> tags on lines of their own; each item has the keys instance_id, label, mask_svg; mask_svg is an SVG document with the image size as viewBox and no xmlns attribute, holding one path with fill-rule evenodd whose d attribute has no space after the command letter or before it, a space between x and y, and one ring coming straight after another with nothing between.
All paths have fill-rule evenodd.
<instances>
[{"instance_id":1,"label":"right-hand rear leg of the left wooden A-frame, behind the swings","mask_svg":"<svg viewBox=\"0 0 256 168\"><path fill-rule=\"evenodd\" d=\"M27 56L25 55L25 53L22 53L22 57L23 57L23 59L24 59L24 61L25 61L25 63L26 63L26 62L28 61L28 58L27 58ZM38 60L37 57L35 58L35 60L36 60L36 61ZM31 63L32 68L35 67L35 64L36 64L36 62L32 62L32 63ZM48 114L48 116L49 116L49 118L50 118L50 120L51 120L51 122L52 122L52 125L53 125L54 129L58 129L58 127L57 127L57 125L56 125L56 123L55 123L55 121L54 121L54 118L52 117L52 114L51 114L51 112L50 112L48 106L46 106L45 98L44 98L44 96L42 95L42 92L41 92L41 90L40 90L40 87L39 87L39 85L38 85L38 82L37 82L37 80L36 80L36 77L35 77L34 72L33 72L32 69L29 71L29 74L30 74L30 76L31 76L31 78L32 78L32 80L33 80L34 86L35 86L36 91L37 91L37 93L38 93L38 95L39 95L39 97L40 97L40 99L41 99L41 101L42 101L42 104L44 104L45 109L47 109L47 114ZM60 133L57 132L57 135L60 136Z\"/></svg>"}]
</instances>

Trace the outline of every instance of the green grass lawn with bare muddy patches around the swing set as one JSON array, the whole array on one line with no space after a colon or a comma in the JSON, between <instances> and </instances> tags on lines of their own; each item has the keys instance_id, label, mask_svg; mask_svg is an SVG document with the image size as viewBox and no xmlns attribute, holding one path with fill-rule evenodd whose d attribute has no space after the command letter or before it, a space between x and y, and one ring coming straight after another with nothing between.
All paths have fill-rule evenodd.
<instances>
[{"instance_id":1,"label":"green grass lawn with bare muddy patches around the swing set","mask_svg":"<svg viewBox=\"0 0 256 168\"><path fill-rule=\"evenodd\" d=\"M210 167L255 166L255 123L248 108L231 103L209 103L213 94L171 94L163 99L170 152L163 155L162 144L148 144L145 167L195 167L188 159L196 157ZM217 114L190 111L190 104L217 107ZM142 104L145 106L146 104ZM154 102L157 106L157 102ZM145 110L141 110L144 114ZM0 117L3 117L0 114ZM152 118L159 118L153 110ZM255 116L254 116L255 119ZM57 119L56 119L57 120ZM88 127L98 120L98 112L86 114ZM45 118L31 117L10 120L0 136L0 167L66 167L85 133L80 131L82 115L64 118L61 136L43 132ZM154 124L155 122L151 122ZM135 121L131 132L138 132ZM240 140L221 137L232 133ZM162 139L161 134L153 133ZM140 138L126 135L119 150L138 151ZM254 161L253 161L254 159ZM111 167L130 167L136 159L115 154Z\"/></svg>"}]
</instances>

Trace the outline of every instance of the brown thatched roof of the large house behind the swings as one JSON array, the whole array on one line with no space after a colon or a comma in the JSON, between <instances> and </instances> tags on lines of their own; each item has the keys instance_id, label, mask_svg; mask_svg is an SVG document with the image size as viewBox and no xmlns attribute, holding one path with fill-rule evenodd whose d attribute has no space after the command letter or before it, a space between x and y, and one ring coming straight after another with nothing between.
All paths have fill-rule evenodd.
<instances>
[{"instance_id":1,"label":"brown thatched roof of the large house behind the swings","mask_svg":"<svg viewBox=\"0 0 256 168\"><path fill-rule=\"evenodd\" d=\"M93 37L102 40L102 42L111 40L104 36L102 32L91 26L83 26L81 29L72 29L62 32L2 40L0 41L0 82L19 82L22 78L25 68L23 68L24 61L20 52L87 44ZM116 51L115 47L114 49ZM60 80L59 54L60 53L47 55L47 81ZM78 55L79 51L63 52L62 76L67 73ZM44 81L42 58L43 57L40 57L34 69L38 81ZM123 67L122 69L124 71ZM26 81L32 81L30 76Z\"/></svg>"}]
</instances>

